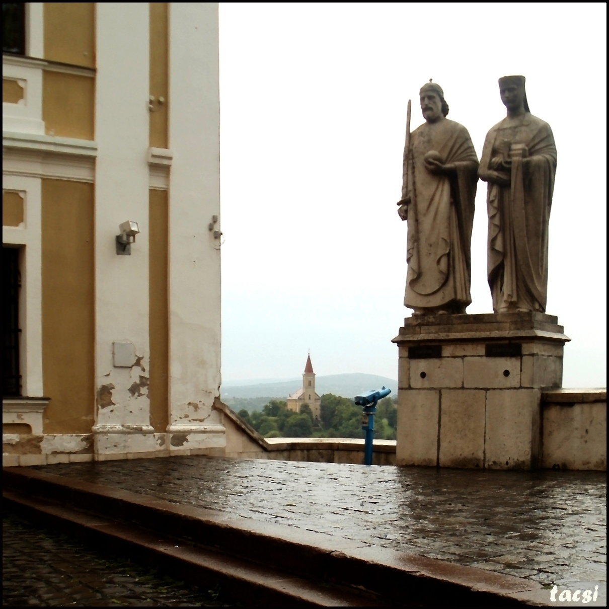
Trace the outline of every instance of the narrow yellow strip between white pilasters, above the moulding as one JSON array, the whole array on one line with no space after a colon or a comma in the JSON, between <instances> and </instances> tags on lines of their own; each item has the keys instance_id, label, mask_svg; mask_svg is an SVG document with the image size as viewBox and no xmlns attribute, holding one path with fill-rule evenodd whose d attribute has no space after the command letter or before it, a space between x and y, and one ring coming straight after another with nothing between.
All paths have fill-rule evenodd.
<instances>
[{"instance_id":1,"label":"narrow yellow strip between white pilasters, above the moulding","mask_svg":"<svg viewBox=\"0 0 609 609\"><path fill-rule=\"evenodd\" d=\"M168 2L150 2L150 146L169 147ZM153 98L153 99L152 99Z\"/></svg>"}]
</instances>

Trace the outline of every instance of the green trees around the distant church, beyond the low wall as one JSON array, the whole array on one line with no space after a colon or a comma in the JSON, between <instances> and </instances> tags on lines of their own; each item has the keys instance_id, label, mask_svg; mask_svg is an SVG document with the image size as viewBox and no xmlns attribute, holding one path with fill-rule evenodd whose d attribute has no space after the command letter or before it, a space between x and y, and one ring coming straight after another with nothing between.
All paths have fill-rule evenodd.
<instances>
[{"instance_id":1,"label":"green trees around the distant church, beyond the low wall","mask_svg":"<svg viewBox=\"0 0 609 609\"><path fill-rule=\"evenodd\" d=\"M239 417L265 438L363 438L362 408L339 395L322 395L320 420L315 421L309 404L300 412L287 409L287 402L270 400L261 411L239 410ZM398 410L395 399L379 401L375 415L375 438L395 440Z\"/></svg>"}]
</instances>

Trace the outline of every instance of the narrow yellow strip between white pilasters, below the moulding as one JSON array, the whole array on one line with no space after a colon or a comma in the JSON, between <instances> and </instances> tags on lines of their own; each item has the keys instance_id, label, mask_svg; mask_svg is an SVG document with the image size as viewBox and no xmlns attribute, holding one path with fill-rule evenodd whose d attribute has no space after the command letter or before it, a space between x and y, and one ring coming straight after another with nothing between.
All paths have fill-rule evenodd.
<instances>
[{"instance_id":1,"label":"narrow yellow strip between white pilasters, below the moulding","mask_svg":"<svg viewBox=\"0 0 609 609\"><path fill-rule=\"evenodd\" d=\"M150 424L165 431L169 424L169 232L167 191L149 191L149 335Z\"/></svg>"}]
</instances>

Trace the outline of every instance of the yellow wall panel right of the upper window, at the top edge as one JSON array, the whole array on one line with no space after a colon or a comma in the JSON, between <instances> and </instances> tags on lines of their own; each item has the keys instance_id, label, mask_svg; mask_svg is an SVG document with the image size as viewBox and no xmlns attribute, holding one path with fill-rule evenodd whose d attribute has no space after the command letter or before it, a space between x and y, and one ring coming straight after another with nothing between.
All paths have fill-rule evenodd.
<instances>
[{"instance_id":1,"label":"yellow wall panel right of the upper window, at the top edge","mask_svg":"<svg viewBox=\"0 0 609 609\"><path fill-rule=\"evenodd\" d=\"M95 2L44 2L44 58L95 67Z\"/></svg>"}]
</instances>

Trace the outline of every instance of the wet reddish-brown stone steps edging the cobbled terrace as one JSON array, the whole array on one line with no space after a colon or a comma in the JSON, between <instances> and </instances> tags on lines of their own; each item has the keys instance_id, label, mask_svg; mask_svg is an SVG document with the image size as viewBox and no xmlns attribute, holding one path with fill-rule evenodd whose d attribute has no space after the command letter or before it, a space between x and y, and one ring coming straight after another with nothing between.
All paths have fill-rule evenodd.
<instances>
[{"instance_id":1,"label":"wet reddish-brown stone steps edging the cobbled terrace","mask_svg":"<svg viewBox=\"0 0 609 609\"><path fill-rule=\"evenodd\" d=\"M549 605L529 580L235 518L29 468L4 468L5 501L112 552L191 583L220 582L247 604Z\"/></svg>"}]
</instances>

